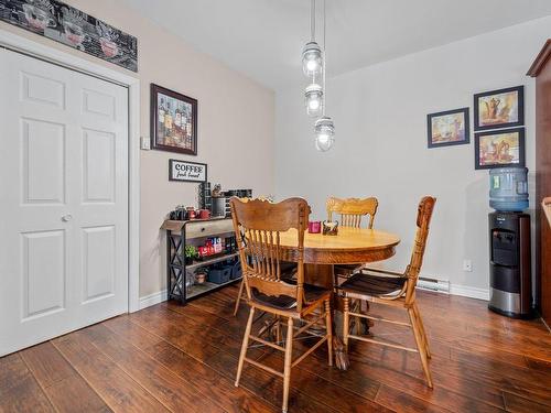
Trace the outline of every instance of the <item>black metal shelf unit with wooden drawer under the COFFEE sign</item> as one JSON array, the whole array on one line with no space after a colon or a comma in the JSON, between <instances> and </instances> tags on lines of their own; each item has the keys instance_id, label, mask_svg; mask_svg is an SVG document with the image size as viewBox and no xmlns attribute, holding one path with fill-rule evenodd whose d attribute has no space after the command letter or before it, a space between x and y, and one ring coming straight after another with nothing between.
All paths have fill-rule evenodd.
<instances>
[{"instance_id":1,"label":"black metal shelf unit with wooden drawer under the COFFEE sign","mask_svg":"<svg viewBox=\"0 0 551 413\"><path fill-rule=\"evenodd\" d=\"M192 263L187 263L184 256L186 243L190 241L224 235L233 236L234 231L230 218L193 219L187 221L168 219L161 229L166 231L166 285L169 300L177 300L182 304L186 304L191 300L241 280L241 278L236 278L222 284L207 281L203 284L191 286L190 291L187 291L186 285L187 271L203 267L209 268L231 259L238 262L239 254L235 250L225 250L223 253Z\"/></svg>"}]
</instances>

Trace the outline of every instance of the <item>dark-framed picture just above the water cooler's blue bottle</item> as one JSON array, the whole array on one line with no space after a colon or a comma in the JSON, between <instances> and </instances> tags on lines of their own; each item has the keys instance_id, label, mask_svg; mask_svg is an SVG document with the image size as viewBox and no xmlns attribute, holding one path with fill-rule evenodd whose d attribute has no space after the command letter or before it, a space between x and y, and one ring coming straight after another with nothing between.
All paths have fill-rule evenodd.
<instances>
[{"instance_id":1,"label":"dark-framed picture just above the water cooler's blue bottle","mask_svg":"<svg viewBox=\"0 0 551 413\"><path fill-rule=\"evenodd\" d=\"M475 169L525 166L525 128L475 133Z\"/></svg>"}]
</instances>

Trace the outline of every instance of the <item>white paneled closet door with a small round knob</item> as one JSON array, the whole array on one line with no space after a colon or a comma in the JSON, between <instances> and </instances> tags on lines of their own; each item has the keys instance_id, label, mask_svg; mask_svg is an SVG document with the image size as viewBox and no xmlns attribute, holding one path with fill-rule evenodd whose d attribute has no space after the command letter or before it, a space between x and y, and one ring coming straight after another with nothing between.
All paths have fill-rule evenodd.
<instances>
[{"instance_id":1,"label":"white paneled closet door with a small round knob","mask_svg":"<svg viewBox=\"0 0 551 413\"><path fill-rule=\"evenodd\" d=\"M0 48L0 356L128 309L128 90Z\"/></svg>"}]
</instances>

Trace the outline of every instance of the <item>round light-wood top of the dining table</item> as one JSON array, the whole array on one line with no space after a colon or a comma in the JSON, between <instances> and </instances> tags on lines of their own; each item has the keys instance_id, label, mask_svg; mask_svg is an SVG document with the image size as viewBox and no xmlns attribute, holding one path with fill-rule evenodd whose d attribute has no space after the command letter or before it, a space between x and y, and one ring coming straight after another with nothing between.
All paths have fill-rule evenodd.
<instances>
[{"instance_id":1,"label":"round light-wood top of the dining table","mask_svg":"<svg viewBox=\"0 0 551 413\"><path fill-rule=\"evenodd\" d=\"M312 264L355 264L386 260L395 254L400 238L367 228L339 227L336 236L304 233L304 262ZM281 232L283 259L298 261L295 229Z\"/></svg>"}]
</instances>

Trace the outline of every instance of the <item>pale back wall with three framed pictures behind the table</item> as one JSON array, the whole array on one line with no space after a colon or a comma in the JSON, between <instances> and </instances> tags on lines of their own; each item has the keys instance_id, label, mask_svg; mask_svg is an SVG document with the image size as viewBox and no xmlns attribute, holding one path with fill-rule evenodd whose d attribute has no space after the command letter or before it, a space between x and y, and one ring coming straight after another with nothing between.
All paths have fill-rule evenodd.
<instances>
[{"instance_id":1,"label":"pale back wall with three framed pictures behind the table","mask_svg":"<svg viewBox=\"0 0 551 413\"><path fill-rule=\"evenodd\" d=\"M411 251L417 203L436 196L422 276L450 280L452 292L486 296L488 172L474 169L473 131L468 145L428 149L426 113L472 108L475 93L525 85L533 206L534 87L526 72L550 35L551 18L544 18L328 79L336 143L327 153L313 146L302 90L279 91L278 198L304 196L313 217L323 219L329 195L377 196L376 227L402 238L388 265L401 268ZM463 271L464 259L472 260L473 272Z\"/></svg>"}]
</instances>

